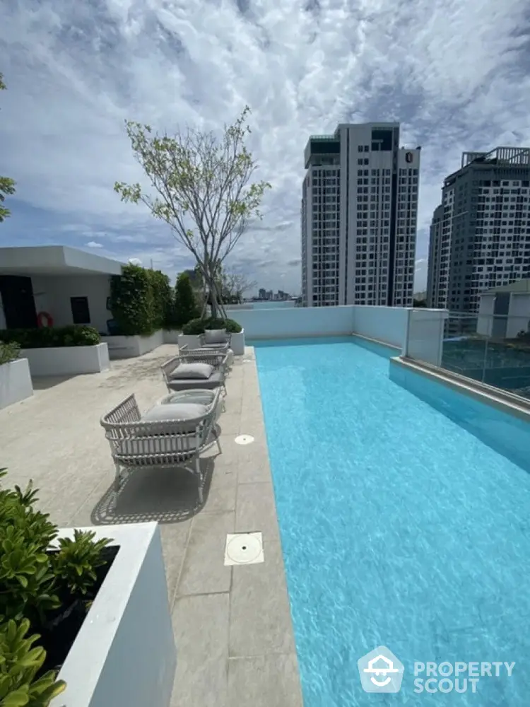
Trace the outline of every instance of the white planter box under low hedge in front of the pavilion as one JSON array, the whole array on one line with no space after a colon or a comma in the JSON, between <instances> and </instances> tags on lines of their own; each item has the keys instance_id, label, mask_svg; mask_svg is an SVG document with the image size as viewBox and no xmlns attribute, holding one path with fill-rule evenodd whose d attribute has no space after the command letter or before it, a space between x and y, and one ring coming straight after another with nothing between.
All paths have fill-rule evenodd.
<instances>
[{"instance_id":1,"label":"white planter box under low hedge in front of the pavilion","mask_svg":"<svg viewBox=\"0 0 530 707\"><path fill-rule=\"evenodd\" d=\"M77 375L100 373L109 368L107 344L95 346L49 346L45 349L21 349L28 359L31 375Z\"/></svg>"}]
</instances>

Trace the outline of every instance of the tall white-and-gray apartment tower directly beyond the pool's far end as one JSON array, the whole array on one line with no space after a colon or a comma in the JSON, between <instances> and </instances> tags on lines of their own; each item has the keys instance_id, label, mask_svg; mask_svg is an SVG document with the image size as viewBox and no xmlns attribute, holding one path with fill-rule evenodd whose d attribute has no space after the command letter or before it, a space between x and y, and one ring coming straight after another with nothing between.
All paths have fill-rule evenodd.
<instances>
[{"instance_id":1,"label":"tall white-and-gray apartment tower directly beyond the pool's far end","mask_svg":"<svg viewBox=\"0 0 530 707\"><path fill-rule=\"evenodd\" d=\"M399 123L312 135L302 184L302 305L413 301L420 148Z\"/></svg>"}]
</instances>

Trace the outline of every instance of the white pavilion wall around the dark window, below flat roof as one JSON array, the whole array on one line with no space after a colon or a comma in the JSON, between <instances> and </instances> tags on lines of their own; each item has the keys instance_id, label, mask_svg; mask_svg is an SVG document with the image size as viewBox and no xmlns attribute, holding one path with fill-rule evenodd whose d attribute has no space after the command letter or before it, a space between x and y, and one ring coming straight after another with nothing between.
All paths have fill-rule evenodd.
<instances>
[{"instance_id":1,"label":"white pavilion wall around the dark window, below flat roof","mask_svg":"<svg viewBox=\"0 0 530 707\"><path fill-rule=\"evenodd\" d=\"M98 332L107 332L107 320L112 319L107 310L109 275L32 276L31 281L37 314L48 312L52 315L54 327L73 324L71 297L87 297L90 322L86 324Z\"/></svg>"}]
</instances>

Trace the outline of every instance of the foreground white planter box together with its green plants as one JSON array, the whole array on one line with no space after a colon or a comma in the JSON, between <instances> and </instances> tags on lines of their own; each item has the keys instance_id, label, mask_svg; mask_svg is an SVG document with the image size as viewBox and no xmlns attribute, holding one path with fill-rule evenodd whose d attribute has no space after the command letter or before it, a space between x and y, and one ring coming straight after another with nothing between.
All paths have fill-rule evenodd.
<instances>
[{"instance_id":1,"label":"foreground white planter box together with its green plants","mask_svg":"<svg viewBox=\"0 0 530 707\"><path fill-rule=\"evenodd\" d=\"M175 643L157 524L59 530L35 501L31 484L0 488L0 706L60 694L57 707L134 695L167 707Z\"/></svg>"}]
</instances>

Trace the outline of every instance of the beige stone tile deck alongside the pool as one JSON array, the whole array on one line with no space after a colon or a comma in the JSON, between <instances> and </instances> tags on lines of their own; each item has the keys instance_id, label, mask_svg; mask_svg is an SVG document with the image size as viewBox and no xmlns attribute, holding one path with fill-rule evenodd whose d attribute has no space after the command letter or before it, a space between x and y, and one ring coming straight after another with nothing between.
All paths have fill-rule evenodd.
<instances>
[{"instance_id":1,"label":"beige stone tile deck alongside the pool","mask_svg":"<svg viewBox=\"0 0 530 707\"><path fill-rule=\"evenodd\" d=\"M166 392L160 364L175 354L166 344L105 373L37 379L33 398L0 411L0 467L8 486L33 479L59 526L160 522L177 645L171 707L301 707L254 349L227 380L223 453L212 448L201 462L204 506L191 474L145 471L112 507L100 417L132 392L142 411L151 407ZM235 444L243 433L254 443ZM226 535L252 531L263 533L264 563L225 567Z\"/></svg>"}]
</instances>

